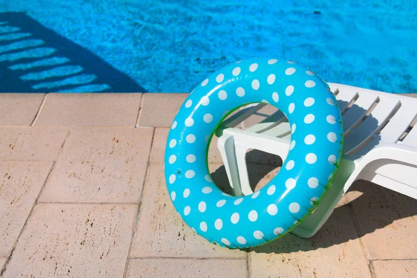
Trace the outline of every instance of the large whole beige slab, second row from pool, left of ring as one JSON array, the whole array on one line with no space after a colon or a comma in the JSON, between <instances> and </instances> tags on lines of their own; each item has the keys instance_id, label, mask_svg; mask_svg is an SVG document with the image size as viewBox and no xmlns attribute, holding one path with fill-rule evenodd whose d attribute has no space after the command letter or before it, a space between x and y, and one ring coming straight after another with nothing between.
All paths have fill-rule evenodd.
<instances>
[{"instance_id":1,"label":"large whole beige slab, second row from pool, left of ring","mask_svg":"<svg viewBox=\"0 0 417 278\"><path fill-rule=\"evenodd\" d=\"M41 202L138 202L152 128L73 128Z\"/></svg>"}]
</instances>

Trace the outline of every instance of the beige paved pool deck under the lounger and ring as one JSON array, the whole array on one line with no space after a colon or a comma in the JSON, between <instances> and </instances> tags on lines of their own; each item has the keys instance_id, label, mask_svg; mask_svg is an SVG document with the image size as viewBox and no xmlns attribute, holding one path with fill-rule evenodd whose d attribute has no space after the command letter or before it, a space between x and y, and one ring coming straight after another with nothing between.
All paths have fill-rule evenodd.
<instances>
[{"instance_id":1,"label":"beige paved pool deck under the lounger and ring","mask_svg":"<svg viewBox=\"0 0 417 278\"><path fill-rule=\"evenodd\" d=\"M417 201L365 181L312 238L228 250L195 235L163 173L187 95L0 95L2 277L417 277ZM278 166L250 158L259 185Z\"/></svg>"}]
</instances>

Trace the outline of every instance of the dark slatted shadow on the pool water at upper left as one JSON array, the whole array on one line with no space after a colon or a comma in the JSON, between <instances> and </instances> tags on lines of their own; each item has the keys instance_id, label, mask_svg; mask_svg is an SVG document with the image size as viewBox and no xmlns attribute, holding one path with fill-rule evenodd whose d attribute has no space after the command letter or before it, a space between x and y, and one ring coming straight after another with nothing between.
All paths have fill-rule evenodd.
<instances>
[{"instance_id":1,"label":"dark slatted shadow on the pool water at upper left","mask_svg":"<svg viewBox=\"0 0 417 278\"><path fill-rule=\"evenodd\" d=\"M0 13L0 92L146 92L25 13Z\"/></svg>"}]
</instances>

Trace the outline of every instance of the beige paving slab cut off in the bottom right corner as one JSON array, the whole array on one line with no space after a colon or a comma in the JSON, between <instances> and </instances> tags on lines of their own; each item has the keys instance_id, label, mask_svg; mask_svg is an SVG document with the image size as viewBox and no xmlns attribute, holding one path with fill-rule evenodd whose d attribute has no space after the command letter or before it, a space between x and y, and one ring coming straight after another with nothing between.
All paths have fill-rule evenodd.
<instances>
[{"instance_id":1,"label":"beige paving slab cut off in the bottom right corner","mask_svg":"<svg viewBox=\"0 0 417 278\"><path fill-rule=\"evenodd\" d=\"M417 277L417 261L373 261L376 278L415 278Z\"/></svg>"}]
</instances>

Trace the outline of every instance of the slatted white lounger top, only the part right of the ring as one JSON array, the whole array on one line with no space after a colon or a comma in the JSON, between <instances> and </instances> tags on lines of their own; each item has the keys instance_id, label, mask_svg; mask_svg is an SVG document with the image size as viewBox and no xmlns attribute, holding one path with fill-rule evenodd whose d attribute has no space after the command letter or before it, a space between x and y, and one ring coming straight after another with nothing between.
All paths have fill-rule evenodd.
<instances>
[{"instance_id":1,"label":"slatted white lounger top, only the part right of the ring","mask_svg":"<svg viewBox=\"0 0 417 278\"><path fill-rule=\"evenodd\" d=\"M343 152L360 158L373 147L398 143L417 147L417 99L329 83L343 117Z\"/></svg>"}]
</instances>

